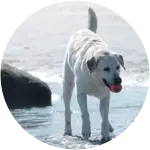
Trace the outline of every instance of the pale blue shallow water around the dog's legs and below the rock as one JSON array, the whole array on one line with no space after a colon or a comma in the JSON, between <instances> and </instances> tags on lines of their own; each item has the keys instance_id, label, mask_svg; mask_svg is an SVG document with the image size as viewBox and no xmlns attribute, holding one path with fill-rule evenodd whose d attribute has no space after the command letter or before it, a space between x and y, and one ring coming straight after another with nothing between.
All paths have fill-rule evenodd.
<instances>
[{"instance_id":1,"label":"pale blue shallow water around the dog's legs and below the rock","mask_svg":"<svg viewBox=\"0 0 150 150\"><path fill-rule=\"evenodd\" d=\"M121 94L113 94L110 103L110 121L115 129L112 137L119 136L124 129L130 127L136 120L143 104L148 97L150 80L146 83L124 84ZM54 84L53 84L54 85ZM52 85L51 85L52 86ZM55 86L58 86L57 84ZM53 87L53 86L52 86ZM60 95L60 96L59 96ZM15 110L12 112L17 123L25 132L36 137L43 143L57 146L59 149L68 147L91 148L100 144L101 118L98 111L98 100L88 98L88 107L91 118L92 136L88 142L81 140L81 118L80 110L73 94L72 98L72 129L73 137L63 137L64 130L64 108L61 93L54 92L53 107L32 108ZM60 146L60 147L59 147Z\"/></svg>"}]
</instances>

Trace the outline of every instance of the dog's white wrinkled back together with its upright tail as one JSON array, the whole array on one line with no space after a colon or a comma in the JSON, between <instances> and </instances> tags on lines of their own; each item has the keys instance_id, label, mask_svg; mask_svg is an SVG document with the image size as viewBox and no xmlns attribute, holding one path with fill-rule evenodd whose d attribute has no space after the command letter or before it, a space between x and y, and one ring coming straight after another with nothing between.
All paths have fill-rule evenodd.
<instances>
[{"instance_id":1,"label":"dog's white wrinkled back together with its upright tail","mask_svg":"<svg viewBox=\"0 0 150 150\"><path fill-rule=\"evenodd\" d=\"M68 41L66 59L71 69L75 63L83 63L89 56L97 53L98 49L107 50L105 42L96 35L97 16L92 8L88 9L88 28L73 33Z\"/></svg>"}]
</instances>

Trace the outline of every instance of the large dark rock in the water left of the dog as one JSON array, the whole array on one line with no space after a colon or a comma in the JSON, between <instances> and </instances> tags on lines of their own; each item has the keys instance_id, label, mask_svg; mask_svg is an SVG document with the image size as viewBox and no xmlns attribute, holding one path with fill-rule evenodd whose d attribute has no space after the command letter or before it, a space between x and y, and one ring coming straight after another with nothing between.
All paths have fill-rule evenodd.
<instances>
[{"instance_id":1,"label":"large dark rock in the water left of the dog","mask_svg":"<svg viewBox=\"0 0 150 150\"><path fill-rule=\"evenodd\" d=\"M0 63L0 109L51 106L51 90L31 74Z\"/></svg>"}]
</instances>

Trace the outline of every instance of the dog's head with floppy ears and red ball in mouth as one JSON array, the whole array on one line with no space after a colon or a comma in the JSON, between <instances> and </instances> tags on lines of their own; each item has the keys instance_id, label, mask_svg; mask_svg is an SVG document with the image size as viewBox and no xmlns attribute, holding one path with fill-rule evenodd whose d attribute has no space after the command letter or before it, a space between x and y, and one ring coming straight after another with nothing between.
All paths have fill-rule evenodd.
<instances>
[{"instance_id":1,"label":"dog's head with floppy ears and red ball in mouth","mask_svg":"<svg viewBox=\"0 0 150 150\"><path fill-rule=\"evenodd\" d=\"M102 52L92 56L86 62L90 74L94 80L103 80L110 91L118 93L122 89L120 77L120 65L125 69L123 56L117 53ZM117 87L113 90L113 87Z\"/></svg>"}]
</instances>

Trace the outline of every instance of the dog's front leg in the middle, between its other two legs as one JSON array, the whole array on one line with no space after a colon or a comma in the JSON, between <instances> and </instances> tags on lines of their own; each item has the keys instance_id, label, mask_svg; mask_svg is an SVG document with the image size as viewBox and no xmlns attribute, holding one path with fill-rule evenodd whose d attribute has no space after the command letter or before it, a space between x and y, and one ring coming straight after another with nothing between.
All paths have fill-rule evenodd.
<instances>
[{"instance_id":1,"label":"dog's front leg in the middle, between its other two legs","mask_svg":"<svg viewBox=\"0 0 150 150\"><path fill-rule=\"evenodd\" d=\"M89 137L91 136L91 126L90 126L90 118L89 118L89 113L87 108L86 94L77 92L77 100L81 110L82 136L85 140L88 140Z\"/></svg>"}]
</instances>

